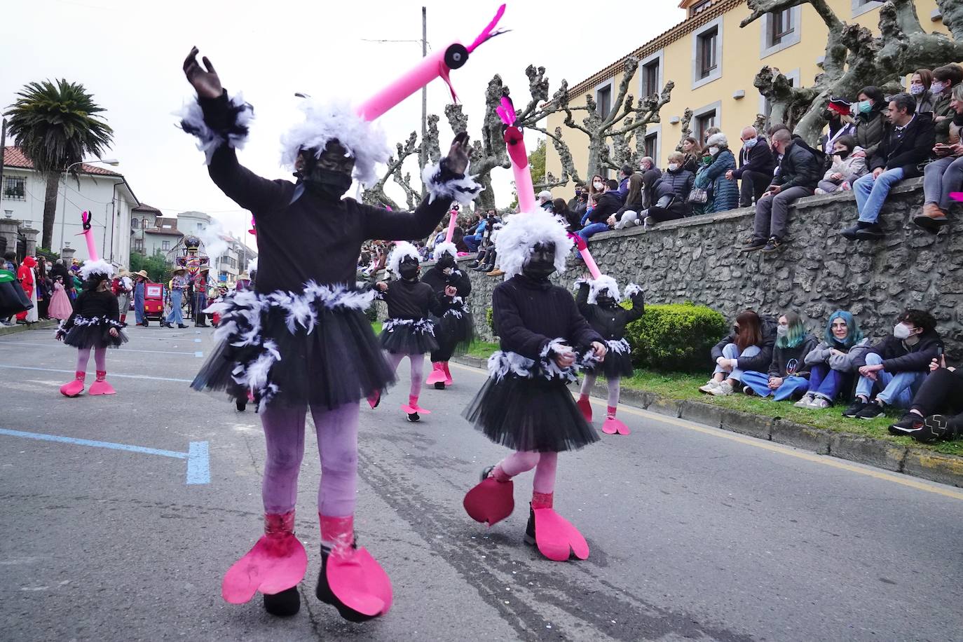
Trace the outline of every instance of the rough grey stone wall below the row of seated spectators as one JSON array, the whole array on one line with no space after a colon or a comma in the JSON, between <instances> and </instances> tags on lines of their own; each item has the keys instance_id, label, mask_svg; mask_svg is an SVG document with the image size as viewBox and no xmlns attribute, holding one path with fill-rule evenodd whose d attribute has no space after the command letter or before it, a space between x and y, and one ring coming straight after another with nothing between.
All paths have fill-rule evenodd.
<instances>
[{"instance_id":1,"label":"rough grey stone wall below the row of seated spectators","mask_svg":"<svg viewBox=\"0 0 963 642\"><path fill-rule=\"evenodd\" d=\"M870 336L892 331L906 307L932 311L954 361L963 358L963 236L953 221L940 237L910 217L923 200L922 181L900 185L883 209L883 241L849 242L840 230L856 218L852 193L800 199L790 213L791 242L776 255L745 254L753 210L663 223L644 231L606 232L588 246L599 269L624 287L635 281L650 303L692 301L732 319L744 308L778 315L796 310L819 335L834 310L847 309ZM463 260L462 265L467 264ZM471 306L479 336L492 341L485 322L501 278L470 271ZM569 260L557 281L566 287L585 273Z\"/></svg>"}]
</instances>

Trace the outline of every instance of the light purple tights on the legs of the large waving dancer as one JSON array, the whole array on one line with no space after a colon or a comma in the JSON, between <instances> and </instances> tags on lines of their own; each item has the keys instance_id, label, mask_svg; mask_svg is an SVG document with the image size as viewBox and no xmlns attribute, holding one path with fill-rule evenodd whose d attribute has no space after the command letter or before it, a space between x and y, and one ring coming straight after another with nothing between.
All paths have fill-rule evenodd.
<instances>
[{"instance_id":1,"label":"light purple tights on the legs of the large waving dancer","mask_svg":"<svg viewBox=\"0 0 963 642\"><path fill-rule=\"evenodd\" d=\"M267 442L261 498L264 512L286 513L294 510L298 499L298 473L304 457L304 418L306 406L276 407L261 411L261 424ZM357 492L359 406L346 403L334 410L311 406L311 417L321 454L321 483L318 486L318 512L329 517L354 514Z\"/></svg>"}]
</instances>

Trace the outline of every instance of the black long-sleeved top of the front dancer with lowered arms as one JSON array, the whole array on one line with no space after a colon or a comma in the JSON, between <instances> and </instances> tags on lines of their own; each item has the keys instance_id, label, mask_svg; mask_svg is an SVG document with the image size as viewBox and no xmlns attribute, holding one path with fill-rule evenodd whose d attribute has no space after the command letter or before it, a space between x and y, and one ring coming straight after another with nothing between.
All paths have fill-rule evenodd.
<instances>
[{"instance_id":1,"label":"black long-sleeved top of the front dancer with lowered arms","mask_svg":"<svg viewBox=\"0 0 963 642\"><path fill-rule=\"evenodd\" d=\"M492 294L492 314L502 349L534 361L555 339L579 348L604 341L579 313L572 295L548 279L516 274L499 284Z\"/></svg>"}]
</instances>

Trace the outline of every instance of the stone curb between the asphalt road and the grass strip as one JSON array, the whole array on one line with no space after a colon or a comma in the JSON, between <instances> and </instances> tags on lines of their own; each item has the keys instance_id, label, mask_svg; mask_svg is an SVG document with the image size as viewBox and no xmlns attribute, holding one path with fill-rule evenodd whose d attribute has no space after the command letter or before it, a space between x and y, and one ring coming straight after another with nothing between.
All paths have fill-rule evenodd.
<instances>
[{"instance_id":1,"label":"stone curb between the asphalt road and the grass strip","mask_svg":"<svg viewBox=\"0 0 963 642\"><path fill-rule=\"evenodd\" d=\"M487 366L487 360L478 357L455 356L452 361L482 370ZM603 384L596 383L592 388L593 397L604 399L608 394L608 388ZM784 419L754 415L712 403L667 398L644 390L623 388L619 403L893 473L922 477L963 488L963 457L955 455L900 446L866 435L834 432Z\"/></svg>"}]
</instances>

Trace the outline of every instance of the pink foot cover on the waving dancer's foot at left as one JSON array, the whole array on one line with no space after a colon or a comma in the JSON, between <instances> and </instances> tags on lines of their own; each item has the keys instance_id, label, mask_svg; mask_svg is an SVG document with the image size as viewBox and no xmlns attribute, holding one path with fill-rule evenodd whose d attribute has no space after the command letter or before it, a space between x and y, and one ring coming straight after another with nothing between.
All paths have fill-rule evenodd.
<instances>
[{"instance_id":1,"label":"pink foot cover on the waving dancer's foot at left","mask_svg":"<svg viewBox=\"0 0 963 642\"><path fill-rule=\"evenodd\" d=\"M260 591L273 595L297 586L307 571L304 545L292 533L263 535L227 569L221 581L224 602L242 604Z\"/></svg>"}]
</instances>

